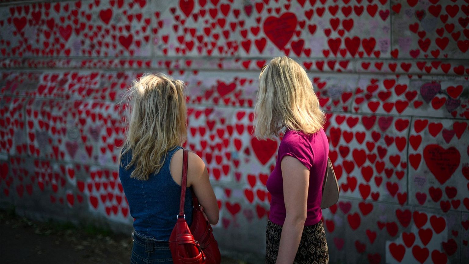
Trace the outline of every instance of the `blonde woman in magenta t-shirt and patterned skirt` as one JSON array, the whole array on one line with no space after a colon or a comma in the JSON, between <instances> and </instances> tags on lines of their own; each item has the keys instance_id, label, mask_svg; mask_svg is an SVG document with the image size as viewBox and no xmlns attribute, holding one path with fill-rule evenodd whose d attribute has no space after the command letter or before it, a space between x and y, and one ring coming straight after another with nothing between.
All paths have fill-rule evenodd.
<instances>
[{"instance_id":1,"label":"blonde woman in magenta t-shirt and patterned skirt","mask_svg":"<svg viewBox=\"0 0 469 264\"><path fill-rule=\"evenodd\" d=\"M255 113L257 138L284 133L267 180L272 201L265 263L327 264L320 205L329 143L324 112L303 67L287 57L264 66Z\"/></svg>"}]
</instances>

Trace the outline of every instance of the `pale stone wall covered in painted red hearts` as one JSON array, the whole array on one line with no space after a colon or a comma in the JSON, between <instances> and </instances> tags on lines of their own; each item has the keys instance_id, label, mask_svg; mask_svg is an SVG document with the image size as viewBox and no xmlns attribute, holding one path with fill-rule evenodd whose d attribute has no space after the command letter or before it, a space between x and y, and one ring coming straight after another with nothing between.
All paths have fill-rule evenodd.
<instances>
[{"instance_id":1,"label":"pale stone wall covered in painted red hearts","mask_svg":"<svg viewBox=\"0 0 469 264\"><path fill-rule=\"evenodd\" d=\"M129 231L116 106L131 80L188 83L224 252L262 262L279 140L251 135L260 68L288 55L328 113L341 189L331 263L467 263L467 0L2 1L1 205Z\"/></svg>"}]
</instances>

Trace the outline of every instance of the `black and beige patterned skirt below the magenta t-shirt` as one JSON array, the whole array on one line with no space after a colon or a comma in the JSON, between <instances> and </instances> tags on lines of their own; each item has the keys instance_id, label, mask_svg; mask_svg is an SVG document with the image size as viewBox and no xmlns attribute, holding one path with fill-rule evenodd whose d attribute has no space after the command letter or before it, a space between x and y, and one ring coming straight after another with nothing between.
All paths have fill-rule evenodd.
<instances>
[{"instance_id":1,"label":"black and beige patterned skirt below the magenta t-shirt","mask_svg":"<svg viewBox=\"0 0 469 264\"><path fill-rule=\"evenodd\" d=\"M275 264L279 254L280 234L282 226L269 221L265 228L267 247L265 248L265 263ZM328 264L329 251L325 240L322 220L316 225L308 225L303 229L300 245L296 252L294 264Z\"/></svg>"}]
</instances>

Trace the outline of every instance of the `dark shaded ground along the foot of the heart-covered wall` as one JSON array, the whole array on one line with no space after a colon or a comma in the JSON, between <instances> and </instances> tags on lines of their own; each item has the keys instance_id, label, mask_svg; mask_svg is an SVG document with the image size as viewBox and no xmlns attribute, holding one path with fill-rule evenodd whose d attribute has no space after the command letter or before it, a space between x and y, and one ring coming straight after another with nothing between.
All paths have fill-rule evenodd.
<instances>
[{"instance_id":1,"label":"dark shaded ground along the foot of the heart-covered wall","mask_svg":"<svg viewBox=\"0 0 469 264\"><path fill-rule=\"evenodd\" d=\"M125 235L0 212L1 264L128 264L131 248ZM242 262L224 257L221 263Z\"/></svg>"}]
</instances>

